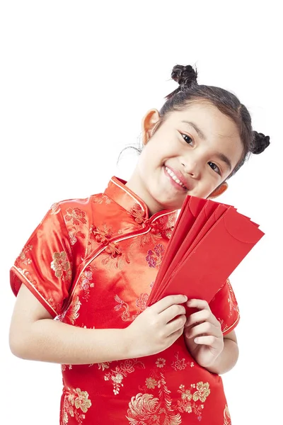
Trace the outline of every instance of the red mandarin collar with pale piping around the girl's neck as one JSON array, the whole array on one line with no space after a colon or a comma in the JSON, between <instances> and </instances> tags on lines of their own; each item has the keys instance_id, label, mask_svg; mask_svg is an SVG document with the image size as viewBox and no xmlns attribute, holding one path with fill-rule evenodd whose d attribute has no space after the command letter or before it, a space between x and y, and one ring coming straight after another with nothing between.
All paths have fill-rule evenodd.
<instances>
[{"instance_id":1,"label":"red mandarin collar with pale piping around the girl's neck","mask_svg":"<svg viewBox=\"0 0 283 425\"><path fill-rule=\"evenodd\" d=\"M136 221L139 219L139 216L142 217L142 221L154 221L158 217L164 215L172 215L171 220L177 220L178 210L162 210L156 212L154 215L151 215L149 218L149 208L139 196L134 193L130 188L126 186L127 181L120 179L119 177L112 176L108 183L108 187L105 189L104 194L109 196L112 200L115 201L122 208L127 210L134 217L138 215ZM171 221L172 222L172 221Z\"/></svg>"}]
</instances>

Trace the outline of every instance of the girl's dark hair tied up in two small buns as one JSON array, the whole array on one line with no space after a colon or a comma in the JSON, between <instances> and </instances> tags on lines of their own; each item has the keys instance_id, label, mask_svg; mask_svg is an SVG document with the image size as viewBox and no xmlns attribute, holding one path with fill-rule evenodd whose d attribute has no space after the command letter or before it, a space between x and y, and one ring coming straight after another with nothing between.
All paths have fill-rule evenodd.
<instances>
[{"instance_id":1,"label":"girl's dark hair tied up in two small buns","mask_svg":"<svg viewBox=\"0 0 283 425\"><path fill-rule=\"evenodd\" d=\"M243 144L243 155L231 172L230 176L238 171L244 164L250 153L260 154L270 145L270 137L262 133L253 131L250 113L238 98L230 91L215 86L204 86L197 84L197 70L191 65L175 65L171 73L171 78L178 82L179 86L171 94L166 96L166 102L160 110L160 120L158 121L154 132L166 120L169 113L173 111L182 111L190 103L195 101L210 103L228 116L236 123L241 142ZM141 153L142 148L126 147L125 149L135 149ZM125 150L123 149L122 152ZM122 154L120 153L120 155ZM120 158L120 156L119 156ZM119 162L118 158L118 162Z\"/></svg>"}]
</instances>

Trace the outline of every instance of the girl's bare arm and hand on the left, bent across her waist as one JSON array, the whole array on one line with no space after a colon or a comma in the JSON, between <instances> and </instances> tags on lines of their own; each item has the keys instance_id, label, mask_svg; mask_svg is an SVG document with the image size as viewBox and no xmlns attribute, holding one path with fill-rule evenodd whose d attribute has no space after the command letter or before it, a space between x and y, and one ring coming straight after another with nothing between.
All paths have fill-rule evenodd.
<instances>
[{"instance_id":1,"label":"girl's bare arm and hand on the left, bent across her waist","mask_svg":"<svg viewBox=\"0 0 283 425\"><path fill-rule=\"evenodd\" d=\"M165 297L126 329L85 329L53 320L23 284L11 319L10 348L20 358L61 364L149 356L171 346L183 333L185 307L180 304L186 300L183 295Z\"/></svg>"}]
</instances>

